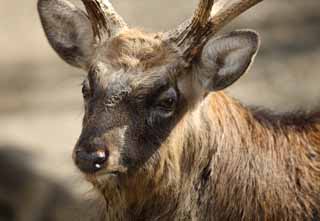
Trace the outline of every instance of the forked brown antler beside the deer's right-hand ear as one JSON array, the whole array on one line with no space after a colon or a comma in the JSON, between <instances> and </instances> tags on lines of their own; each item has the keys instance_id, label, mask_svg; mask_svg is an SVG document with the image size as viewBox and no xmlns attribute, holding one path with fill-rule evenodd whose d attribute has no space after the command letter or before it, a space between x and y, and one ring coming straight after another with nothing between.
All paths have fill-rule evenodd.
<instances>
[{"instance_id":1,"label":"forked brown antler beside the deer's right-hand ear","mask_svg":"<svg viewBox=\"0 0 320 221\"><path fill-rule=\"evenodd\" d=\"M191 60L211 36L263 0L200 0L193 17L168 34Z\"/></svg>"}]
</instances>

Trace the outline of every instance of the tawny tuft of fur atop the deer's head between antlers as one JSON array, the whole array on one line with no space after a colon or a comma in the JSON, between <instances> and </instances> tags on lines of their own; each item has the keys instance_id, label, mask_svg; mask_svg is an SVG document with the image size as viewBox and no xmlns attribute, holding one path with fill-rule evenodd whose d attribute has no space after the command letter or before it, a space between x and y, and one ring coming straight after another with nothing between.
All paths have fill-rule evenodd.
<instances>
[{"instance_id":1,"label":"tawny tuft of fur atop the deer's head between antlers","mask_svg":"<svg viewBox=\"0 0 320 221\"><path fill-rule=\"evenodd\" d=\"M178 51L160 34L127 30L98 49L98 59L115 69L148 70L174 61Z\"/></svg>"}]
</instances>

